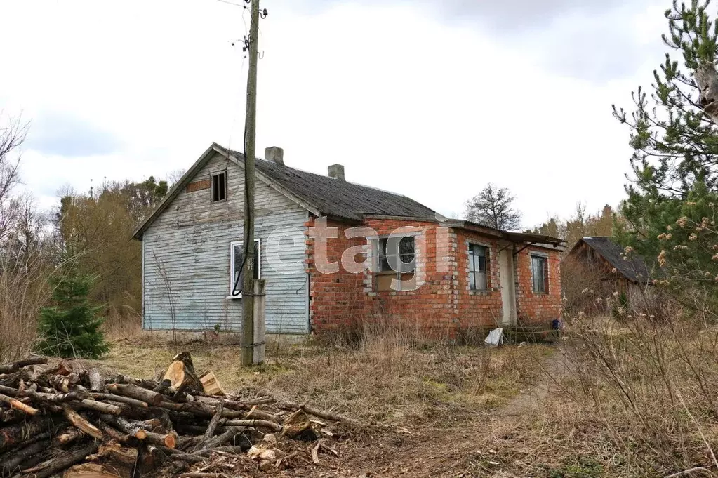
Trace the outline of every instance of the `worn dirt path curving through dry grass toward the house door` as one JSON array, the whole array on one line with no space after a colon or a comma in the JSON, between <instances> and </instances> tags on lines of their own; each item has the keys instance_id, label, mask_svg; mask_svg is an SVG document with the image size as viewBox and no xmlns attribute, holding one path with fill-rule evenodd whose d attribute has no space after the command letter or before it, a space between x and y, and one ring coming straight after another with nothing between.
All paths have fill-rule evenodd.
<instances>
[{"instance_id":1,"label":"worn dirt path curving through dry grass toward the house door","mask_svg":"<svg viewBox=\"0 0 718 478\"><path fill-rule=\"evenodd\" d=\"M392 434L377 439L365 451L342 464L342 469L320 474L322 477L472 477L482 476L472 469L472 459L486 461L491 450L477 449L482 436L493 433L494 427L510 429L510 423L536 413L541 400L559 391L557 381L566 374L564 354L559 348L541 364L543 372L538 383L521 393L505 406L477 416L461 426L429 431L421 436L409 433ZM503 429L503 428L502 428ZM490 461L490 460L489 460ZM503 475L509 476L509 475Z\"/></svg>"}]
</instances>

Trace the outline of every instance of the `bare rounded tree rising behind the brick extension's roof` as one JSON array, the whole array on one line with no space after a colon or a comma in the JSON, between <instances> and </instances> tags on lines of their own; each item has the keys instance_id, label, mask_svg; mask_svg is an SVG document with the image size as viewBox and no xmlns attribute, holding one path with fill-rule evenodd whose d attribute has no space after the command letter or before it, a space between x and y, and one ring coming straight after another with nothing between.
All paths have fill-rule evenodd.
<instances>
[{"instance_id":1,"label":"bare rounded tree rising behind the brick extension's roof","mask_svg":"<svg viewBox=\"0 0 718 478\"><path fill-rule=\"evenodd\" d=\"M521 212L511 207L516 200L508 188L488 184L479 194L465 202L464 217L501 230L521 228Z\"/></svg>"}]
</instances>

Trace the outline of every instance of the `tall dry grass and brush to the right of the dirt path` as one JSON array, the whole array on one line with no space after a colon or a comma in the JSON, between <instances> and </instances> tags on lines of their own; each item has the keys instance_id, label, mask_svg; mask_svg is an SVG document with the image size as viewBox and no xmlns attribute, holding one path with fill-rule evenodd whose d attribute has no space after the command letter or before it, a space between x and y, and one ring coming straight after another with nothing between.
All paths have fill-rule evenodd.
<instances>
[{"instance_id":1,"label":"tall dry grass and brush to the right of the dirt path","mask_svg":"<svg viewBox=\"0 0 718 478\"><path fill-rule=\"evenodd\" d=\"M700 467L685 476L718 476L718 329L681 316L582 317L567 335L556 393L488 428L471 472L666 477Z\"/></svg>"}]
</instances>

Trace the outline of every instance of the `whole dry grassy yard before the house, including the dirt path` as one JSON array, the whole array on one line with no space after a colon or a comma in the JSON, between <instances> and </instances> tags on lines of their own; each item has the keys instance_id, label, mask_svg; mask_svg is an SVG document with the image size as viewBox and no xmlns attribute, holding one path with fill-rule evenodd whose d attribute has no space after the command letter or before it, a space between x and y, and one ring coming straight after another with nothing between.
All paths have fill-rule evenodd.
<instances>
[{"instance_id":1,"label":"whole dry grassy yard before the house, including the dirt path","mask_svg":"<svg viewBox=\"0 0 718 478\"><path fill-rule=\"evenodd\" d=\"M353 342L270 342L266 364L246 369L238 345L138 335L97 363L150 378L182 350L227 390L370 425L335 443L340 459L292 476L718 477L718 329L683 317L584 317L559 347L385 327Z\"/></svg>"}]
</instances>

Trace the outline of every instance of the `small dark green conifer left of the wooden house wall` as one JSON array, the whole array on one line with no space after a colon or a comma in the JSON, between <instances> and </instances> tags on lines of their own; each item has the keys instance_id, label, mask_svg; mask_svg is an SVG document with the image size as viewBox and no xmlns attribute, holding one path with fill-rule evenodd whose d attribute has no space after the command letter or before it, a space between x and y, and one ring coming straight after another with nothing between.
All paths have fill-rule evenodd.
<instances>
[{"instance_id":1,"label":"small dark green conifer left of the wooden house wall","mask_svg":"<svg viewBox=\"0 0 718 478\"><path fill-rule=\"evenodd\" d=\"M103 306L92 306L88 293L93 278L78 273L55 279L54 304L40 311L37 351L58 357L98 358L109 347L101 330Z\"/></svg>"}]
</instances>

